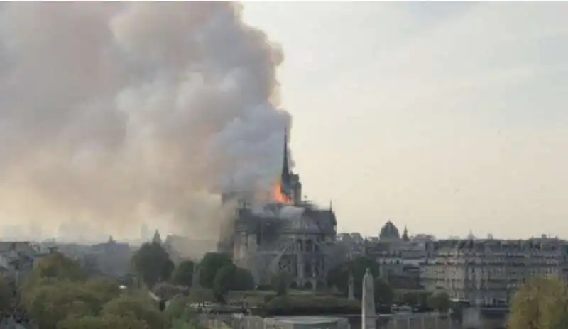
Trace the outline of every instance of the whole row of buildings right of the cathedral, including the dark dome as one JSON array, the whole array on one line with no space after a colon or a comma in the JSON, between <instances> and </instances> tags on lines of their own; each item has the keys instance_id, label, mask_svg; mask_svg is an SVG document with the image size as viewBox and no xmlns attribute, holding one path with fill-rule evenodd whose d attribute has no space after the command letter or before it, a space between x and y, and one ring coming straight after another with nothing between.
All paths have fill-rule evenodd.
<instances>
[{"instance_id":1,"label":"whole row of buildings right of the cathedral, including the dark dome","mask_svg":"<svg viewBox=\"0 0 568 329\"><path fill-rule=\"evenodd\" d=\"M350 235L353 235L351 233ZM372 257L381 276L428 291L445 291L452 299L478 305L507 305L513 291L530 277L568 279L568 242L557 238L528 240L435 240L431 235L401 236L388 221L378 237L346 243L354 255ZM402 281L401 281L402 280Z\"/></svg>"}]
</instances>

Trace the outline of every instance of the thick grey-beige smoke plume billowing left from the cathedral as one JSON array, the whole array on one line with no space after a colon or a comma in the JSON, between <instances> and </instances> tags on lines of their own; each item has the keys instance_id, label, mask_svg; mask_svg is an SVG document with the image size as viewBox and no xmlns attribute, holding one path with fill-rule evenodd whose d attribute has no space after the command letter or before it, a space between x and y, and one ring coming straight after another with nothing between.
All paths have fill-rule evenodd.
<instances>
[{"instance_id":1,"label":"thick grey-beige smoke plume billowing left from the cathedral","mask_svg":"<svg viewBox=\"0 0 568 329\"><path fill-rule=\"evenodd\" d=\"M2 4L4 216L190 223L210 194L268 188L282 61L239 4Z\"/></svg>"}]
</instances>

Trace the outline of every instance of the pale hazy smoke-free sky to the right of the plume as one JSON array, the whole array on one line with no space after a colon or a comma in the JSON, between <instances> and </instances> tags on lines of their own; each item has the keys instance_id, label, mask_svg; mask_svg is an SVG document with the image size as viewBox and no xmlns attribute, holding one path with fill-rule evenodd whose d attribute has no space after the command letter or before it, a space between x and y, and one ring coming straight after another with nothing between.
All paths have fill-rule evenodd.
<instances>
[{"instance_id":1,"label":"pale hazy smoke-free sky to the right of the plume","mask_svg":"<svg viewBox=\"0 0 568 329\"><path fill-rule=\"evenodd\" d=\"M568 238L568 3L246 3L339 229Z\"/></svg>"}]
</instances>

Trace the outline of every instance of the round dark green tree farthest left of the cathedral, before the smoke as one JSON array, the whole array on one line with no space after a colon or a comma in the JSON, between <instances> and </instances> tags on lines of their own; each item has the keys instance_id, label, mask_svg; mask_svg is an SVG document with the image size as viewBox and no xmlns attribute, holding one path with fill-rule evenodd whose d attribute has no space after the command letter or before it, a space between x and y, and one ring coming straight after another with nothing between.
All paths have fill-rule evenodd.
<instances>
[{"instance_id":1,"label":"round dark green tree farthest left of the cathedral, before the smoke","mask_svg":"<svg viewBox=\"0 0 568 329\"><path fill-rule=\"evenodd\" d=\"M132 264L148 287L167 281L174 269L170 255L158 242L146 242L132 256Z\"/></svg>"}]
</instances>

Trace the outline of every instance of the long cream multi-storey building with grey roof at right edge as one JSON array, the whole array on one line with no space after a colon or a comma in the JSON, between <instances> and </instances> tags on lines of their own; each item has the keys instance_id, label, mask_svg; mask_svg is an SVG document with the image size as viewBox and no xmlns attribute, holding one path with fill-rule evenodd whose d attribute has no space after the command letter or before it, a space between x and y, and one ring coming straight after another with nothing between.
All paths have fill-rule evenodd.
<instances>
[{"instance_id":1,"label":"long cream multi-storey building with grey roof at right edge","mask_svg":"<svg viewBox=\"0 0 568 329\"><path fill-rule=\"evenodd\" d=\"M530 240L439 240L427 242L420 284L476 305L507 305L530 277L565 277L566 242Z\"/></svg>"}]
</instances>

